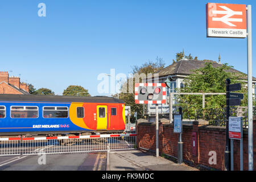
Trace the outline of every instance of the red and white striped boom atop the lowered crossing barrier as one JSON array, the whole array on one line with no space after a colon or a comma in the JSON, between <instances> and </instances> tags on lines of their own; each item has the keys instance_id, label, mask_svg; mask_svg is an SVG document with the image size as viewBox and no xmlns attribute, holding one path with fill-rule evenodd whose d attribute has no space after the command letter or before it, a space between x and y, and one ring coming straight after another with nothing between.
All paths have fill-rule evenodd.
<instances>
[{"instance_id":1,"label":"red and white striped boom atop the lowered crossing barrier","mask_svg":"<svg viewBox=\"0 0 256 182\"><path fill-rule=\"evenodd\" d=\"M109 138L109 137L135 137L137 134L107 134L107 135L84 135L84 136L68 136L68 137L14 137L14 138L0 138L0 141L8 140L52 140L52 139L72 139L72 138Z\"/></svg>"}]
</instances>

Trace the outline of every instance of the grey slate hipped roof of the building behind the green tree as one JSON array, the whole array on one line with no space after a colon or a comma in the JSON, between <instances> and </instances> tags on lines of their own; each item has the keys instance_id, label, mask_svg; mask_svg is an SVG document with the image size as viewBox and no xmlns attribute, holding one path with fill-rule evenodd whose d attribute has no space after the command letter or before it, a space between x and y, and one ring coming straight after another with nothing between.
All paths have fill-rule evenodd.
<instances>
[{"instance_id":1,"label":"grey slate hipped roof of the building behind the green tree","mask_svg":"<svg viewBox=\"0 0 256 182\"><path fill-rule=\"evenodd\" d=\"M196 69L205 67L205 63L210 62L212 63L212 66L214 68L221 67L222 64L218 64L216 61L201 61L201 60L188 60L188 59L182 59L179 60L171 65L169 65L166 68L163 68L161 71L158 72L159 77L167 76L167 75L191 75L192 73L195 73ZM227 72L232 73L242 73L234 68L229 68ZM243 73L245 74L245 73ZM243 76L242 79L247 80L247 75ZM253 77L253 81L256 81L256 78Z\"/></svg>"}]
</instances>

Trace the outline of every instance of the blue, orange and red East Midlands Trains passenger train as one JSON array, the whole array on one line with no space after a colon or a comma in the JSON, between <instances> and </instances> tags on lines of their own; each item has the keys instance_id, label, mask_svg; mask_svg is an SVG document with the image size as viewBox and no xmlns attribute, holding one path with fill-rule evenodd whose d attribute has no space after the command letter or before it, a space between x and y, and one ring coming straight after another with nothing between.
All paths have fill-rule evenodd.
<instances>
[{"instance_id":1,"label":"blue, orange and red East Midlands Trains passenger train","mask_svg":"<svg viewBox=\"0 0 256 182\"><path fill-rule=\"evenodd\" d=\"M0 94L0 135L122 133L125 103L113 97Z\"/></svg>"}]
</instances>

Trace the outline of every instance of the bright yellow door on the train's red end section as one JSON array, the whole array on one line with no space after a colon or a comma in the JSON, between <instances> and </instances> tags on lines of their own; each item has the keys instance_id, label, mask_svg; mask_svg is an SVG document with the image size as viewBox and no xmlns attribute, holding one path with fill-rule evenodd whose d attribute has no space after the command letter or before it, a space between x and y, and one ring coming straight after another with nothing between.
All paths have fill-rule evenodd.
<instances>
[{"instance_id":1,"label":"bright yellow door on the train's red end section","mask_svg":"<svg viewBox=\"0 0 256 182\"><path fill-rule=\"evenodd\" d=\"M108 126L107 106L97 106L97 130L106 130Z\"/></svg>"}]
</instances>

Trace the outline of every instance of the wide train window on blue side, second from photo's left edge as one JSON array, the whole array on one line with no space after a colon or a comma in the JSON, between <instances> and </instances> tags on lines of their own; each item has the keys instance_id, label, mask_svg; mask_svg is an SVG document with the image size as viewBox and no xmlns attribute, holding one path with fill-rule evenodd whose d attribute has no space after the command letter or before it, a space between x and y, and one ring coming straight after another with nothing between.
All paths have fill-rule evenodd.
<instances>
[{"instance_id":1,"label":"wide train window on blue side, second from photo's left edge","mask_svg":"<svg viewBox=\"0 0 256 182\"><path fill-rule=\"evenodd\" d=\"M38 118L38 107L11 106L11 118Z\"/></svg>"}]
</instances>

